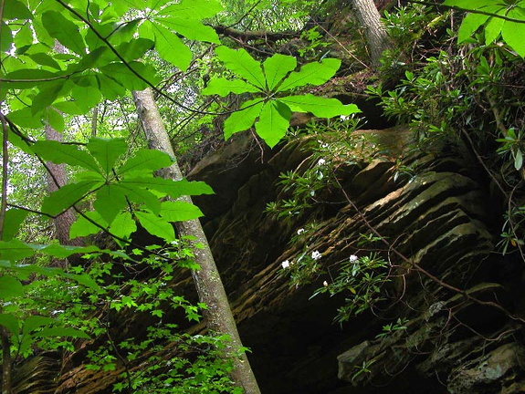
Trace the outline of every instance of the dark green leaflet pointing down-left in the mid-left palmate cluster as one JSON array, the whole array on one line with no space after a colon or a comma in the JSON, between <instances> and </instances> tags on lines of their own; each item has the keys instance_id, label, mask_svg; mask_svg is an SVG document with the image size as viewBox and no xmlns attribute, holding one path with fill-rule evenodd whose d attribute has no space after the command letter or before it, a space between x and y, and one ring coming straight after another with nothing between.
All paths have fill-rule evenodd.
<instances>
[{"instance_id":1,"label":"dark green leaflet pointing down-left in the mid-left palmate cluster","mask_svg":"<svg viewBox=\"0 0 525 394\"><path fill-rule=\"evenodd\" d=\"M57 192L49 194L42 202L42 212L53 216L62 213L82 200L100 184L100 181L79 181L62 186Z\"/></svg>"}]
</instances>

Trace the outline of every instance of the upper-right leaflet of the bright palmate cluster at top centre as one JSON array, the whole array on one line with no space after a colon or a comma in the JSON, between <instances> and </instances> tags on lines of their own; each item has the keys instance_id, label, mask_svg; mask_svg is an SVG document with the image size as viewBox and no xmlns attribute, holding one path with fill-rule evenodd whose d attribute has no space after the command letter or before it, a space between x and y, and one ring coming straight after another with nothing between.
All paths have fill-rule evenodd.
<instances>
[{"instance_id":1,"label":"upper-right leaflet of the bright palmate cluster at top centre","mask_svg":"<svg viewBox=\"0 0 525 394\"><path fill-rule=\"evenodd\" d=\"M341 60L334 58L325 58L320 62L307 63L300 67L299 71L292 72L278 87L278 91L305 85L322 85L335 75L340 66Z\"/></svg>"}]
</instances>

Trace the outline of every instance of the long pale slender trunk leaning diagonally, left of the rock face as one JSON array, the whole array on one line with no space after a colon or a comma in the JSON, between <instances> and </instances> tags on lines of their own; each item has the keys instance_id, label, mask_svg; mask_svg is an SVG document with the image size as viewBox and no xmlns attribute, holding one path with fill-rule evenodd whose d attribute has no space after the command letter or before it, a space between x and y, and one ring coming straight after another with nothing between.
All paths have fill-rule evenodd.
<instances>
[{"instance_id":1,"label":"long pale slender trunk leaning diagonally, left of the rock face","mask_svg":"<svg viewBox=\"0 0 525 394\"><path fill-rule=\"evenodd\" d=\"M147 88L142 91L133 91L133 99L142 122L142 129L151 149L162 150L169 154L173 160L175 155L168 134L163 126L163 120L153 99L152 89ZM183 175L176 161L173 165L163 171L163 177L175 181L183 179ZM182 197L184 202L192 202L189 196ZM205 312L207 327L210 331L226 334L230 337L231 343L227 347L226 357L231 359L234 365L231 378L236 385L245 389L246 394L260 394L257 380L251 370L246 354L237 357L238 350L242 343L237 331L234 316L228 304L226 291L217 271L214 256L205 237L201 223L195 219L186 222L176 223L179 235L192 235L194 241L195 263L199 264L200 269L193 271L194 283L201 302L208 307ZM195 247L196 244L204 245Z\"/></svg>"}]
</instances>

